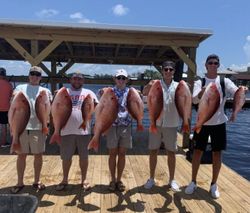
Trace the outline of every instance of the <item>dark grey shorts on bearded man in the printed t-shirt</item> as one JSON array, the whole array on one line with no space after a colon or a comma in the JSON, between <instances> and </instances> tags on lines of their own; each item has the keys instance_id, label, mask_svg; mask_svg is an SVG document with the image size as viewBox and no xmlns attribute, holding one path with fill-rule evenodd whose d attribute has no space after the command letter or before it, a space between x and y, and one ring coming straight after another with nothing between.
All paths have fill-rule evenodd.
<instances>
[{"instance_id":1,"label":"dark grey shorts on bearded man in the printed t-shirt","mask_svg":"<svg viewBox=\"0 0 250 213\"><path fill-rule=\"evenodd\" d=\"M62 136L60 154L62 160L71 160L76 149L80 159L88 158L88 144L91 135L65 135Z\"/></svg>"}]
</instances>

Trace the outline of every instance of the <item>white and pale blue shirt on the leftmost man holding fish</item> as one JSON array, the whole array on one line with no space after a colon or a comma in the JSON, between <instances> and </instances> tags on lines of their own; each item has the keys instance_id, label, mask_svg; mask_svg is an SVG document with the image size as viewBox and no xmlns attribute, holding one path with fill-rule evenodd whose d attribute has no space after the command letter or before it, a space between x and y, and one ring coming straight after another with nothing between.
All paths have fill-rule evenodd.
<instances>
[{"instance_id":1,"label":"white and pale blue shirt on the leftmost man holding fish","mask_svg":"<svg viewBox=\"0 0 250 213\"><path fill-rule=\"evenodd\" d=\"M42 129L42 124L38 120L35 110L36 98L42 90L45 90L47 92L47 95L49 96L49 99L52 100L51 92L47 88L41 87L39 85L34 86L31 84L21 84L18 85L15 89L15 91L22 91L30 104L30 119L26 126L26 130Z\"/></svg>"}]
</instances>

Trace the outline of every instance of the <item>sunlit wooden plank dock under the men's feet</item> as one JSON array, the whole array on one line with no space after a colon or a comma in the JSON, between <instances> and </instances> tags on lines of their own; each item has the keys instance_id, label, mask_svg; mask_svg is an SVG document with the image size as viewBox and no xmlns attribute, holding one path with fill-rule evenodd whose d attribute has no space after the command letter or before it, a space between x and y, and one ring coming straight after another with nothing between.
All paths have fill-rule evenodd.
<instances>
[{"instance_id":1,"label":"sunlit wooden plank dock under the men's feet","mask_svg":"<svg viewBox=\"0 0 250 213\"><path fill-rule=\"evenodd\" d=\"M80 189L78 157L74 156L69 175L69 186L57 192L55 185L61 181L62 167L58 147L50 145L44 155L41 180L47 185L36 192L33 182L33 157L27 158L25 185L22 193L38 198L37 212L250 212L250 183L223 165L218 181L221 197L214 200L208 192L211 181L211 165L202 164L198 174L198 189L193 195L184 193L191 178L191 164L185 159L185 150L179 149L175 178L181 192L174 193L167 186L167 156L161 150L156 170L157 185L146 190L143 184L149 176L147 134L134 137L134 148L127 155L123 181L126 191L111 193L108 190L109 170L105 142L99 154L89 156L88 180L92 189ZM0 149L0 194L7 194L16 184L16 156L8 154L8 148ZM1 207L0 207L1 208ZM1 212L1 211L0 211Z\"/></svg>"}]
</instances>

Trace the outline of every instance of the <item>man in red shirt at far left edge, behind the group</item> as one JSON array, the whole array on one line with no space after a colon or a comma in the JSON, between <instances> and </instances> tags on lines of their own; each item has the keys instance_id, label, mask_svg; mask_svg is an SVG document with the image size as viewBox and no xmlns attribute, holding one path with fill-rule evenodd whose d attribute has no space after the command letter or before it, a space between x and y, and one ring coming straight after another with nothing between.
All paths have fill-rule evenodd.
<instances>
[{"instance_id":1,"label":"man in red shirt at far left edge, behind the group","mask_svg":"<svg viewBox=\"0 0 250 213\"><path fill-rule=\"evenodd\" d=\"M6 80L6 70L0 67L0 147L7 146L7 125L10 99L12 96L12 85Z\"/></svg>"}]
</instances>

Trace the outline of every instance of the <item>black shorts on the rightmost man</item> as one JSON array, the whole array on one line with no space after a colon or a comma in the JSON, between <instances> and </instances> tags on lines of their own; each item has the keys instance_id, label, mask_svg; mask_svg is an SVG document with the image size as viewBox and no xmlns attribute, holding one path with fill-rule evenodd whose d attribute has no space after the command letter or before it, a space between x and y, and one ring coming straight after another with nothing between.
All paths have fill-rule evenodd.
<instances>
[{"instance_id":1,"label":"black shorts on the rightmost man","mask_svg":"<svg viewBox=\"0 0 250 213\"><path fill-rule=\"evenodd\" d=\"M227 146L226 123L211 126L202 126L199 134L194 132L194 148L206 150L208 137L211 138L212 151L222 151Z\"/></svg>"}]
</instances>

